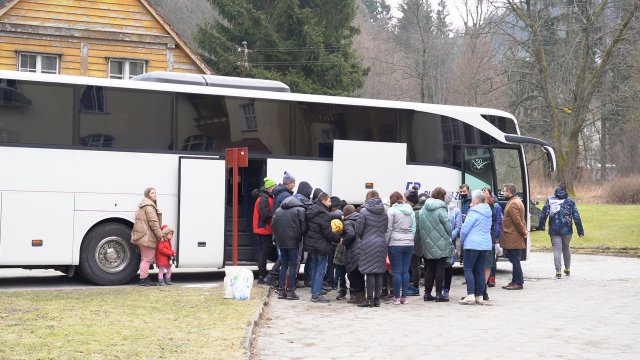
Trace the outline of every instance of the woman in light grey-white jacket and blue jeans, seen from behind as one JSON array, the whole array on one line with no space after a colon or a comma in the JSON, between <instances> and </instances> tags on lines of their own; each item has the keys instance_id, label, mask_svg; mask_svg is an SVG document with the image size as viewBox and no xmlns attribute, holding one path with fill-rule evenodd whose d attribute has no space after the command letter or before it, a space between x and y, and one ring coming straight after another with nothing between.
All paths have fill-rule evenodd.
<instances>
[{"instance_id":1,"label":"woman in light grey-white jacket and blue jeans, seen from behind","mask_svg":"<svg viewBox=\"0 0 640 360\"><path fill-rule=\"evenodd\" d=\"M393 304L405 304L409 290L409 265L413 255L413 238L416 233L416 214L404 197L394 191L389 197L387 211L387 246L391 273L393 274ZM400 291L402 290L402 291Z\"/></svg>"}]
</instances>

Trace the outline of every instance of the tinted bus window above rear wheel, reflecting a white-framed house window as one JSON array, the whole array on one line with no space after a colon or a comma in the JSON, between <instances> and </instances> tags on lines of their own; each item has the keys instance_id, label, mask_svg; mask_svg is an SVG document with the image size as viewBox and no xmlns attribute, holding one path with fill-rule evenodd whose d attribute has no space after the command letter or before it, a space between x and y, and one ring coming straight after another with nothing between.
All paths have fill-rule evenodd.
<instances>
[{"instance_id":1,"label":"tinted bus window above rear wheel, reflecting a white-framed house window","mask_svg":"<svg viewBox=\"0 0 640 360\"><path fill-rule=\"evenodd\" d=\"M119 149L172 148L171 94L97 86L81 86L78 94L79 139L74 139L74 144Z\"/></svg>"}]
</instances>

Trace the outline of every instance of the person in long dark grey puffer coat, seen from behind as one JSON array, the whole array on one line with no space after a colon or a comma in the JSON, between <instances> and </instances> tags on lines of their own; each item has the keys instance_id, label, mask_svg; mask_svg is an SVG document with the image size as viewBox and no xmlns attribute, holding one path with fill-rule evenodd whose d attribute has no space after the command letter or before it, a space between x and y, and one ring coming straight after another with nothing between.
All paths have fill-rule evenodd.
<instances>
[{"instance_id":1,"label":"person in long dark grey puffer coat, seen from behind","mask_svg":"<svg viewBox=\"0 0 640 360\"><path fill-rule=\"evenodd\" d=\"M380 195L367 192L366 201L356 221L356 236L362 239L358 269L367 275L367 300L360 307L380 306L382 281L387 272L387 226L389 220Z\"/></svg>"}]
</instances>

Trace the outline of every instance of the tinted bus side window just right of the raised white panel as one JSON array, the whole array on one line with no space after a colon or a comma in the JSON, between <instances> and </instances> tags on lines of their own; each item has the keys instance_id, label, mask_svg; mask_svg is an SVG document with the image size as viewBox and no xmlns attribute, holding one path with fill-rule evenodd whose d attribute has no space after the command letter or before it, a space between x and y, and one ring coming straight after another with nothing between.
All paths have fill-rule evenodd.
<instances>
[{"instance_id":1,"label":"tinted bus side window just right of the raised white panel","mask_svg":"<svg viewBox=\"0 0 640 360\"><path fill-rule=\"evenodd\" d=\"M401 117L401 141L407 161L461 167L461 122L446 116L418 113Z\"/></svg>"}]
</instances>

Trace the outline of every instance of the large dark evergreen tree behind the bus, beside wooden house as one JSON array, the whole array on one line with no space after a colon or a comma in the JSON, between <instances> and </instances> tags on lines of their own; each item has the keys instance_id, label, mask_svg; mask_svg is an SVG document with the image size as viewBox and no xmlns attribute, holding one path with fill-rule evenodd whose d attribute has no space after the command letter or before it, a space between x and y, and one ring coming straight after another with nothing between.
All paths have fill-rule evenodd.
<instances>
[{"instance_id":1,"label":"large dark evergreen tree behind the bus, beside wooden house","mask_svg":"<svg viewBox=\"0 0 640 360\"><path fill-rule=\"evenodd\" d=\"M247 76L279 80L294 92L347 96L367 75L352 48L355 0L209 0L222 19L195 40L220 75L240 76L247 42Z\"/></svg>"}]
</instances>

